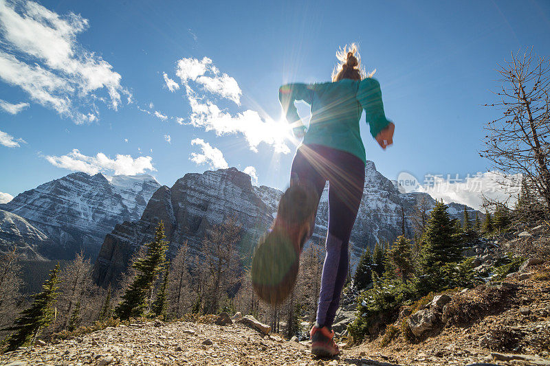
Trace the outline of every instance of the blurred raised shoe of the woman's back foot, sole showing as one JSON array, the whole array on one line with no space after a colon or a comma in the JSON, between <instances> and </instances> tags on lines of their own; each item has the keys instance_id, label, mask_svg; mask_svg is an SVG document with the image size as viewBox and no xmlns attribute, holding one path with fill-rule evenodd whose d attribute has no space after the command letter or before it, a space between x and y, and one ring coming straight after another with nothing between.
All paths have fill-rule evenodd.
<instances>
[{"instance_id":1,"label":"blurred raised shoe of the woman's back foot, sole showing","mask_svg":"<svg viewBox=\"0 0 550 366\"><path fill-rule=\"evenodd\" d=\"M293 185L281 196L272 229L252 256L252 286L268 304L281 304L294 288L300 253L311 236L318 195L307 185Z\"/></svg>"}]
</instances>

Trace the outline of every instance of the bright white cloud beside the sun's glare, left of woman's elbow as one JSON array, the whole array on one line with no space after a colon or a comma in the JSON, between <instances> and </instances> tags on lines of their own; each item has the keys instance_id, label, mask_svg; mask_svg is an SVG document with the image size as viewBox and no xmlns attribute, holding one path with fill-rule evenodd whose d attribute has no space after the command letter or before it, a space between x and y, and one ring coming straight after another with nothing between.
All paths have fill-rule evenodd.
<instances>
[{"instance_id":1,"label":"bright white cloud beside the sun's glare, left of woman's elbow","mask_svg":"<svg viewBox=\"0 0 550 366\"><path fill-rule=\"evenodd\" d=\"M258 151L258 146L262 142L273 146L275 152L290 152L285 144L285 137L289 135L289 124L275 122L269 117L263 119L258 112L250 109L231 115L208 100L199 100L190 87L186 86L186 90L192 110L192 126L203 127L207 131L214 130L219 136L242 133L248 141L250 150L254 152Z\"/></svg>"}]
</instances>

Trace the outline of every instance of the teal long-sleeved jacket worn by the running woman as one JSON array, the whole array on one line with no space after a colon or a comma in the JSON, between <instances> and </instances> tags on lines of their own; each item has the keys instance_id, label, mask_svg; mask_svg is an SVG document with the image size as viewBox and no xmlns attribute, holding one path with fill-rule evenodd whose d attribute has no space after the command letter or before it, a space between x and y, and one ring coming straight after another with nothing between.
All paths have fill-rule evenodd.
<instances>
[{"instance_id":1,"label":"teal long-sleeved jacket worn by the running woman","mask_svg":"<svg viewBox=\"0 0 550 366\"><path fill-rule=\"evenodd\" d=\"M303 100L309 104L311 119L303 144L318 144L351 152L362 161L366 161L359 133L359 119L363 109L373 137L390 122L384 115L380 83L373 78L320 84L286 84L279 89L279 100L295 132L305 130L305 126L294 102Z\"/></svg>"}]
</instances>

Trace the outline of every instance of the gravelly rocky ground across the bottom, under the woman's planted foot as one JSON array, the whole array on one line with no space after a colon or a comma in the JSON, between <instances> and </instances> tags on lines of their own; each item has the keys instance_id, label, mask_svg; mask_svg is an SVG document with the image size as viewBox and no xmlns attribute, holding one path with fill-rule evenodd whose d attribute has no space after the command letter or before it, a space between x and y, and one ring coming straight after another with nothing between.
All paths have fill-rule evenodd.
<instances>
[{"instance_id":1,"label":"gravelly rocky ground across the bottom, under the woman's planted foot","mask_svg":"<svg viewBox=\"0 0 550 366\"><path fill-rule=\"evenodd\" d=\"M118 325L59 343L42 343L0 356L0 365L550 365L540 343L549 342L549 280L544 264L507 278L503 311L472 323L443 328L417 344L397 336L386 347L379 339L343 347L333 360L311 356L307 342L264 334L262 325L215 325L177 321ZM475 299L479 289L460 294ZM537 343L538 342L538 343ZM538 348L539 347L539 348Z\"/></svg>"}]
</instances>

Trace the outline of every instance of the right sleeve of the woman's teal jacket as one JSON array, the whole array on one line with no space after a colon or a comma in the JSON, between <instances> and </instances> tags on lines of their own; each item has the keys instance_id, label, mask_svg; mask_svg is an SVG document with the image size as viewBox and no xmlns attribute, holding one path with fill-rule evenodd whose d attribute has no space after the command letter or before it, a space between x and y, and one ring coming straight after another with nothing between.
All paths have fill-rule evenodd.
<instances>
[{"instance_id":1,"label":"right sleeve of the woman's teal jacket","mask_svg":"<svg viewBox=\"0 0 550 366\"><path fill-rule=\"evenodd\" d=\"M357 91L357 99L365 110L366 123L371 126L371 135L376 137L390 123L384 114L380 82L373 78L361 80Z\"/></svg>"}]
</instances>

